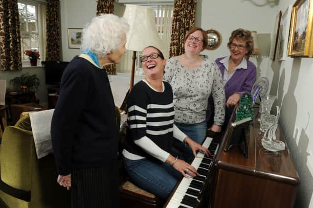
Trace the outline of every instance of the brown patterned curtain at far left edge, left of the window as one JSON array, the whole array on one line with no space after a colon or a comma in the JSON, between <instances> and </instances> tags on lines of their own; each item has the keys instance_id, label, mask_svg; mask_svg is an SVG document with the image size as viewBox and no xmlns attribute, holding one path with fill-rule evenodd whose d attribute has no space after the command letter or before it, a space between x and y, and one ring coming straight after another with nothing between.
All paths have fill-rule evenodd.
<instances>
[{"instance_id":1,"label":"brown patterned curtain at far left edge, left of the window","mask_svg":"<svg viewBox=\"0 0 313 208\"><path fill-rule=\"evenodd\" d=\"M1 70L22 70L20 19L17 0L0 0Z\"/></svg>"}]
</instances>

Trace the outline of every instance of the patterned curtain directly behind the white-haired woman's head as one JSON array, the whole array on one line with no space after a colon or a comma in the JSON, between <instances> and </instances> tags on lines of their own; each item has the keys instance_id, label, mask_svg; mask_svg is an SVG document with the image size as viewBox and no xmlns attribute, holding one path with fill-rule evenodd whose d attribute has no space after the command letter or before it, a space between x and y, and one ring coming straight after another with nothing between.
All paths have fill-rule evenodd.
<instances>
[{"instance_id":1,"label":"patterned curtain directly behind the white-haired woman's head","mask_svg":"<svg viewBox=\"0 0 313 208\"><path fill-rule=\"evenodd\" d=\"M97 1L97 16L100 14L114 14L114 0L98 0ZM107 65L106 71L108 74L116 74L115 64Z\"/></svg>"}]
</instances>

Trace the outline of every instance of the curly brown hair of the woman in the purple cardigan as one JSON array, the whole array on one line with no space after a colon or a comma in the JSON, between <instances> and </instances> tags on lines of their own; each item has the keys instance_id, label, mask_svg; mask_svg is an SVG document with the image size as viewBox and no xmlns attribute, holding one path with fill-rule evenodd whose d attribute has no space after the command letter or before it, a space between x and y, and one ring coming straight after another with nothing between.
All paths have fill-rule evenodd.
<instances>
[{"instance_id":1,"label":"curly brown hair of the woman in the purple cardigan","mask_svg":"<svg viewBox=\"0 0 313 208\"><path fill-rule=\"evenodd\" d=\"M232 31L231 36L229 37L229 42L227 43L228 48L230 48L230 44L233 42L234 39L239 39L246 42L246 49L248 51L246 53L246 56L249 57L254 49L254 41L251 32L242 28Z\"/></svg>"}]
</instances>

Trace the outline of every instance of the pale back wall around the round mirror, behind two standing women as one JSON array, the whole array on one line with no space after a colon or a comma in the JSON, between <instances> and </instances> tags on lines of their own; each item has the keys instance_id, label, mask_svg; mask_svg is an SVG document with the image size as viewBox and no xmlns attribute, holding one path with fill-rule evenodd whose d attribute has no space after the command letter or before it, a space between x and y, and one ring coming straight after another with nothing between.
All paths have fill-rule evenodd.
<instances>
[{"instance_id":1,"label":"pale back wall around the round mirror, behind two standing women","mask_svg":"<svg viewBox=\"0 0 313 208\"><path fill-rule=\"evenodd\" d=\"M215 29L222 36L222 43L217 49L204 50L202 53L208 55L211 60L229 55L227 43L233 30L244 28L257 31L259 42L264 42L259 44L262 54L250 57L250 61L257 66L258 77L265 76L275 12L275 4L258 6L250 0L198 0L195 25L204 30Z\"/></svg>"}]
</instances>

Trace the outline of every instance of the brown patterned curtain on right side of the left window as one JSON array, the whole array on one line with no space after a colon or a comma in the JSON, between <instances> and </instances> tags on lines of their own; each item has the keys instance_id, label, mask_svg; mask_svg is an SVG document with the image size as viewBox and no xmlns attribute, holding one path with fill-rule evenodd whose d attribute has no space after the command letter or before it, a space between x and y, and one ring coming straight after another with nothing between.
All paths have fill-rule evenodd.
<instances>
[{"instance_id":1,"label":"brown patterned curtain on right side of the left window","mask_svg":"<svg viewBox=\"0 0 313 208\"><path fill-rule=\"evenodd\" d=\"M47 32L46 32L46 61L59 61L60 59L60 27L59 27L59 0L47 0Z\"/></svg>"}]
</instances>

